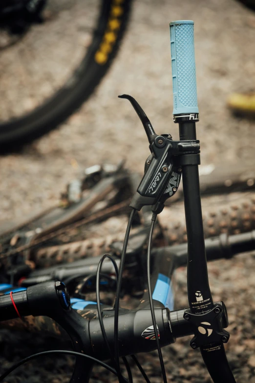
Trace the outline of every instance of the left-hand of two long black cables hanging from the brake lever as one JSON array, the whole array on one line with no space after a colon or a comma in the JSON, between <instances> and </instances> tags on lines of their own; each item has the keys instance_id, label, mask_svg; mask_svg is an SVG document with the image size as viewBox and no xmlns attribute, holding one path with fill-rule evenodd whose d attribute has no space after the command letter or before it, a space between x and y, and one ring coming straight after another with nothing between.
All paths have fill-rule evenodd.
<instances>
[{"instance_id":1,"label":"left-hand of two long black cables hanging from the brake lever","mask_svg":"<svg viewBox=\"0 0 255 383\"><path fill-rule=\"evenodd\" d=\"M133 222L134 214L136 212L136 209L133 209L130 213L128 224L127 224L127 230L125 234L125 239L124 239L124 244L123 244L123 249L122 249L122 254L121 254L121 261L120 261L120 269L119 269L119 278L117 282L117 289L116 289L116 299L115 299L115 313L114 313L114 356L115 356L115 361L117 364L117 372L121 376L120 373L120 360L119 360L119 343L118 343L118 324L119 324L119 306L120 306L120 293L121 293L121 282L122 282L122 275L123 275L123 270L124 270L124 264L125 264L125 258L126 258L126 251L127 251L127 242L128 242L128 237L129 233L131 230L131 225ZM118 376L119 378L119 376ZM121 382L121 380L119 379Z\"/></svg>"}]
</instances>

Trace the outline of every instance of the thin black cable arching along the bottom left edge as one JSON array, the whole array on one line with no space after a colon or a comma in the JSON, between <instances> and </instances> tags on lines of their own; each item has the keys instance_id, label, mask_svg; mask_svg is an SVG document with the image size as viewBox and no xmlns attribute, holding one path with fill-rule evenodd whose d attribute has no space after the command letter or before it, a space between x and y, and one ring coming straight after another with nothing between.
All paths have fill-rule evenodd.
<instances>
[{"instance_id":1,"label":"thin black cable arching along the bottom left edge","mask_svg":"<svg viewBox=\"0 0 255 383\"><path fill-rule=\"evenodd\" d=\"M102 362L101 360L93 358L90 355L82 354L82 353L76 352L76 351L69 351L69 350L50 350L50 351L43 351L43 352L39 352L38 354L30 355L29 357L26 357L26 358L20 360L19 362L15 363L4 374L2 374L0 376L0 382L2 382L3 379L5 379L6 376L9 375L13 370L15 370L16 368L20 367L21 364L24 364L28 360L32 360L32 359L35 359L35 358L40 357L42 355L48 355L48 354L67 354L67 355L74 355L74 356L84 357L84 358L93 360L94 362L97 362L101 366L105 367L108 371L110 371L114 375L118 376L117 371L114 370L114 368L111 368L110 366L108 366L108 364ZM123 377L123 380L124 380L124 382L129 383L128 380L126 378L124 378L124 377Z\"/></svg>"}]
</instances>

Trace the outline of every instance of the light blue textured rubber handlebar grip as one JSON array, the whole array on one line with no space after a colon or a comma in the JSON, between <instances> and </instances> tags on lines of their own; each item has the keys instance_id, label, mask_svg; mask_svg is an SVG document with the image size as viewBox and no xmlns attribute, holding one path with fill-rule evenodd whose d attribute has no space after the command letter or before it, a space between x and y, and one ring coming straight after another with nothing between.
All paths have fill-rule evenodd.
<instances>
[{"instance_id":1,"label":"light blue textured rubber handlebar grip","mask_svg":"<svg viewBox=\"0 0 255 383\"><path fill-rule=\"evenodd\" d=\"M198 113L194 22L170 23L173 114Z\"/></svg>"}]
</instances>

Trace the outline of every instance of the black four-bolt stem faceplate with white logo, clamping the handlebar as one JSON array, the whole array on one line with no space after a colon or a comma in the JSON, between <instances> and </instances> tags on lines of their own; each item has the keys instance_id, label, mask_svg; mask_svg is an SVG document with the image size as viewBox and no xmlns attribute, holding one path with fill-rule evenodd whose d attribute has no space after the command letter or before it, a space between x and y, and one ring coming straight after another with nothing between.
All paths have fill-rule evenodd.
<instances>
[{"instance_id":1,"label":"black four-bolt stem faceplate with white logo, clamping the handlebar","mask_svg":"<svg viewBox=\"0 0 255 383\"><path fill-rule=\"evenodd\" d=\"M189 309L185 310L183 317L193 325L194 337L190 341L193 349L228 342L230 334L223 329L228 326L227 310L223 302L215 304L205 314L192 314Z\"/></svg>"}]
</instances>

